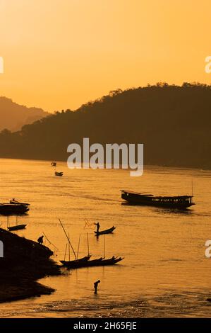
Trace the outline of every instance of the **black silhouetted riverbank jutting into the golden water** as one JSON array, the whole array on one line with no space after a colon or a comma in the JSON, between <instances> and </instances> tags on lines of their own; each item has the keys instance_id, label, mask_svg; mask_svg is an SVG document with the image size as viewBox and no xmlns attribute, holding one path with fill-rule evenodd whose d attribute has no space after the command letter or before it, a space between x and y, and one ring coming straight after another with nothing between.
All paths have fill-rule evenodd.
<instances>
[{"instance_id":1,"label":"black silhouetted riverbank jutting into the golden water","mask_svg":"<svg viewBox=\"0 0 211 333\"><path fill-rule=\"evenodd\" d=\"M48 295L53 288L37 283L44 276L59 275L59 266L50 259L53 252L42 244L0 228L4 257L0 258L0 303Z\"/></svg>"}]
</instances>

